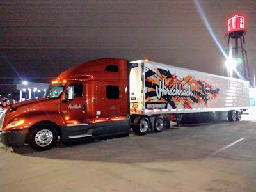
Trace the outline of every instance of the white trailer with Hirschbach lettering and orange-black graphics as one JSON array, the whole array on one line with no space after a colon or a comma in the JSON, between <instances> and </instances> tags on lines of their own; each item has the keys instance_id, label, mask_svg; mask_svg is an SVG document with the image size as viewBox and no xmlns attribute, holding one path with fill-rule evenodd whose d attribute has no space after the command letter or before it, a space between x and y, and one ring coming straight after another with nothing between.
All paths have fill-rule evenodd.
<instances>
[{"instance_id":1,"label":"white trailer with Hirschbach lettering and orange-black graphics","mask_svg":"<svg viewBox=\"0 0 256 192\"><path fill-rule=\"evenodd\" d=\"M153 117L156 124L157 116L164 120L171 116L177 125L227 118L236 121L249 108L248 81L147 60L131 63L132 118L145 115L148 119Z\"/></svg>"}]
</instances>

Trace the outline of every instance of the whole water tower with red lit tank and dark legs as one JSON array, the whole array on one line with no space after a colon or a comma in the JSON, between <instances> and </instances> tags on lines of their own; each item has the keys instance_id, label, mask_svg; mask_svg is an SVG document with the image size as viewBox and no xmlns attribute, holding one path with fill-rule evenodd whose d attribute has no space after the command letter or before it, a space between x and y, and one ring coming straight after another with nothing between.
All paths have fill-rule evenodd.
<instances>
[{"instance_id":1,"label":"whole water tower with red lit tank and dark legs","mask_svg":"<svg viewBox=\"0 0 256 192\"><path fill-rule=\"evenodd\" d=\"M236 60L236 70L232 77L250 81L247 51L244 35L246 33L244 16L235 15L228 19L228 56Z\"/></svg>"}]
</instances>

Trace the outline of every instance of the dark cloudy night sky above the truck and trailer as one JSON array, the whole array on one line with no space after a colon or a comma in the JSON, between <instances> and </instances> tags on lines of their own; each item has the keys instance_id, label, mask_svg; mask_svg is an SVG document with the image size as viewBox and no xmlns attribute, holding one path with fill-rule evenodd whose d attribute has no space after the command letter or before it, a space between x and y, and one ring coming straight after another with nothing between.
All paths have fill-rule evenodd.
<instances>
[{"instance_id":1,"label":"dark cloudy night sky above the truck and trailer","mask_svg":"<svg viewBox=\"0 0 256 192\"><path fill-rule=\"evenodd\" d=\"M198 1L220 47L228 19L244 15L251 77L256 70L256 1ZM50 83L97 58L125 58L223 76L225 58L195 1L0 1L0 84ZM16 80L15 80L16 79Z\"/></svg>"}]
</instances>

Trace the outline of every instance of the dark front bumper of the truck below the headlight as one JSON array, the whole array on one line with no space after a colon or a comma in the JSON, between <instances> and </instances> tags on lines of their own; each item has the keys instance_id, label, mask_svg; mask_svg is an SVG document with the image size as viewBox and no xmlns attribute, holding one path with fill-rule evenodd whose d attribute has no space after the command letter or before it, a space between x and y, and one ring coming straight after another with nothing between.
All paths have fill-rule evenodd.
<instances>
[{"instance_id":1,"label":"dark front bumper of the truck below the headlight","mask_svg":"<svg viewBox=\"0 0 256 192\"><path fill-rule=\"evenodd\" d=\"M28 129L0 132L1 143L10 147L23 147Z\"/></svg>"}]
</instances>

